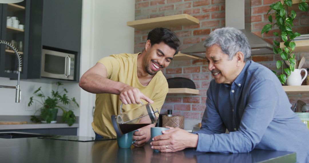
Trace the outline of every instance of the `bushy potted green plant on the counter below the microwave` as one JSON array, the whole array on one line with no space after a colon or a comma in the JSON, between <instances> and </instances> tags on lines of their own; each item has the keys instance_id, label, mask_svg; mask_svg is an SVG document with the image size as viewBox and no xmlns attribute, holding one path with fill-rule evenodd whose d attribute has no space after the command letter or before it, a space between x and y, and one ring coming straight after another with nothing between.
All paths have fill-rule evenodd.
<instances>
[{"instance_id":1,"label":"bushy potted green plant on the counter below the microwave","mask_svg":"<svg viewBox=\"0 0 309 163\"><path fill-rule=\"evenodd\" d=\"M70 102L73 102L73 104L76 105L77 107L79 107L79 105L76 102L74 97L69 99L66 96L65 93L68 93L68 91L65 88L62 87L63 90L61 92L58 91L59 86L63 85L61 82L57 82L56 84L57 84L57 90L56 91L52 90L51 92L52 97L49 97L49 96L45 97L43 91L41 90L41 87L35 90L33 94L36 94L36 96L39 97L40 100L34 99L33 96L30 97L30 102L28 103L28 107L30 107L33 104L33 101L39 102L42 105L42 107L40 107L38 110L40 110L41 112L40 116L44 121L46 121L46 123L51 123L51 121L56 120L56 116L57 116L57 112L59 108L63 111L62 121L67 122L69 126L72 126L76 120L76 117L74 115L74 112L69 110L64 105L67 105ZM40 119L36 117L35 115L32 115L31 121L40 122Z\"/></svg>"}]
</instances>

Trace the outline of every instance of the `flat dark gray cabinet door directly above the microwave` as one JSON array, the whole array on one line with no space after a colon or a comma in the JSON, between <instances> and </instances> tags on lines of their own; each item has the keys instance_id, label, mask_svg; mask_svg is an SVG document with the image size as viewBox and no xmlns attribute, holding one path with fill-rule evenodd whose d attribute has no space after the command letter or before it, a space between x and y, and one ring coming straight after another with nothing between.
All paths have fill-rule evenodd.
<instances>
[{"instance_id":1,"label":"flat dark gray cabinet door directly above the microwave","mask_svg":"<svg viewBox=\"0 0 309 163\"><path fill-rule=\"evenodd\" d=\"M43 46L80 51L81 0L44 0Z\"/></svg>"}]
</instances>

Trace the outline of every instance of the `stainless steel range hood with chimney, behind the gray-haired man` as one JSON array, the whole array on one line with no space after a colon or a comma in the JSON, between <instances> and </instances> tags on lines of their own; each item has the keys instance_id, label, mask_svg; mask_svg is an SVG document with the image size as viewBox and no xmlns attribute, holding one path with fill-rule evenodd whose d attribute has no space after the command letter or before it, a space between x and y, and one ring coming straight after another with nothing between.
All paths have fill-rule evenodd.
<instances>
[{"instance_id":1,"label":"stainless steel range hood with chimney, behind the gray-haired man","mask_svg":"<svg viewBox=\"0 0 309 163\"><path fill-rule=\"evenodd\" d=\"M225 1L225 26L241 30L248 38L251 55L271 54L273 45L251 32L251 0ZM181 53L205 58L204 41L181 50Z\"/></svg>"}]
</instances>

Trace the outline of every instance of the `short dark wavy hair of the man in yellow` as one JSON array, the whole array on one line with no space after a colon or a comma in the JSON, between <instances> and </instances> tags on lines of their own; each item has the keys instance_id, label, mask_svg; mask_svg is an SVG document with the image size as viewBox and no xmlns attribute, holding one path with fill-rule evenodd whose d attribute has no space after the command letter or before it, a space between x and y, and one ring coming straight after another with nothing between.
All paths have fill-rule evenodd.
<instances>
[{"instance_id":1,"label":"short dark wavy hair of the man in yellow","mask_svg":"<svg viewBox=\"0 0 309 163\"><path fill-rule=\"evenodd\" d=\"M158 27L148 33L147 40L150 40L151 46L164 42L169 47L176 50L174 56L179 51L180 41L176 34L167 28Z\"/></svg>"}]
</instances>

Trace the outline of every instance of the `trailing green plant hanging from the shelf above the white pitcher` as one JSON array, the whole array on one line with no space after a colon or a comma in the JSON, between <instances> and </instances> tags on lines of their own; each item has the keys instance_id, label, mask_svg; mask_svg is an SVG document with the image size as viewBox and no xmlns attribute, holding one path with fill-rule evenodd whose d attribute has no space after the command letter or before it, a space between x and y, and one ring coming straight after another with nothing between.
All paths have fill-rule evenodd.
<instances>
[{"instance_id":1,"label":"trailing green plant hanging from the shelf above the white pitcher","mask_svg":"<svg viewBox=\"0 0 309 163\"><path fill-rule=\"evenodd\" d=\"M308 4L306 0L299 0L298 8L301 11L308 11ZM267 12L267 15L272 10L274 13L270 14L268 20L272 24L266 24L261 34L268 33L273 26L279 28L279 32L273 32L275 36L280 37L280 42L284 42L285 48L280 48L280 42L274 40L273 52L281 56L281 60L276 62L277 69L282 69L281 74L277 75L282 84L285 84L287 77L290 76L291 71L294 71L296 60L295 55L292 53L295 49L294 38L300 36L300 33L293 32L293 20L296 17L296 12L294 10L289 10L289 7L292 7L292 0L284 0L283 4L281 2L275 2L270 5L270 9ZM275 21L273 22L273 16ZM286 63L286 68L284 68L283 63ZM273 71L275 74L276 72Z\"/></svg>"}]
</instances>

